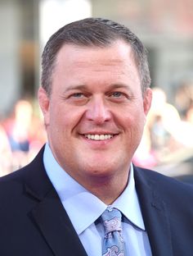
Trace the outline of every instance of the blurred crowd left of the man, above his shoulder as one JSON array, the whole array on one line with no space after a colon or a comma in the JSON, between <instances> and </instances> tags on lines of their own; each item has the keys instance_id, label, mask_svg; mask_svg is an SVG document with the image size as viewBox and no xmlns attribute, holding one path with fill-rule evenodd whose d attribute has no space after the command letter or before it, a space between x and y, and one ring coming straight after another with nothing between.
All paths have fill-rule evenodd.
<instances>
[{"instance_id":1,"label":"blurred crowd left of the man, above his shoulder","mask_svg":"<svg viewBox=\"0 0 193 256\"><path fill-rule=\"evenodd\" d=\"M13 112L0 123L0 176L23 167L46 141L40 112L26 99L16 102Z\"/></svg>"}]
</instances>

